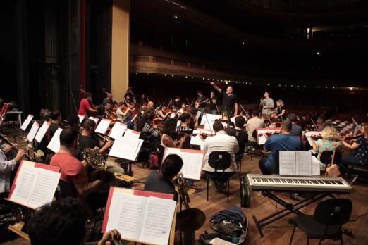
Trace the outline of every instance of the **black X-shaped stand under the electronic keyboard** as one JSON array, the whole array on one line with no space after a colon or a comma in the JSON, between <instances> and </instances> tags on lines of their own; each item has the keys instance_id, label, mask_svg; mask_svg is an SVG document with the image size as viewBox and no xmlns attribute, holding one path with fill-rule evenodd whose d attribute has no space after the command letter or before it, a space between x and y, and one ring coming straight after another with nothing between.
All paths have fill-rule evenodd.
<instances>
[{"instance_id":1,"label":"black X-shaped stand under the electronic keyboard","mask_svg":"<svg viewBox=\"0 0 368 245\"><path fill-rule=\"evenodd\" d=\"M314 203L318 200L323 199L326 196L329 196L331 194L330 192L312 192L310 196L308 196L306 199L303 199L302 201L298 201L297 203L287 203L286 201L283 201L282 199L279 199L276 195L272 194L271 191L262 191L263 196L269 197L270 199L276 201L276 203L281 204L284 208L281 211L277 211L275 213L272 213L271 215L266 216L265 218L262 218L261 220L257 220L255 215L253 215L253 220L257 226L258 232L263 237L262 233L262 227L271 224L272 222L275 222L276 220L280 220L281 218L285 217L286 215L289 215L291 213L295 213L296 215L304 215L300 210L300 208L304 208L305 206L308 206L311 203Z\"/></svg>"}]
</instances>

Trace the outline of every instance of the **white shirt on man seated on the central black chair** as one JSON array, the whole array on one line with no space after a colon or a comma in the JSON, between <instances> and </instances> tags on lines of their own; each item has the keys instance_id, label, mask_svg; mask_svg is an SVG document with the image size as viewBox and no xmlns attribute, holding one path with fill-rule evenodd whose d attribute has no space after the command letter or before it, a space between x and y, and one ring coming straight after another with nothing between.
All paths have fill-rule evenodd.
<instances>
[{"instance_id":1,"label":"white shirt on man seated on the central black chair","mask_svg":"<svg viewBox=\"0 0 368 245\"><path fill-rule=\"evenodd\" d=\"M231 167L226 168L225 172L236 171L235 153L239 151L239 145L235 137L229 136L225 131L221 130L217 132L215 136L207 137L206 140L204 140L203 150L205 155L202 169L204 171L214 172L214 168L208 164L209 154L214 151L226 151L230 153L232 160Z\"/></svg>"}]
</instances>

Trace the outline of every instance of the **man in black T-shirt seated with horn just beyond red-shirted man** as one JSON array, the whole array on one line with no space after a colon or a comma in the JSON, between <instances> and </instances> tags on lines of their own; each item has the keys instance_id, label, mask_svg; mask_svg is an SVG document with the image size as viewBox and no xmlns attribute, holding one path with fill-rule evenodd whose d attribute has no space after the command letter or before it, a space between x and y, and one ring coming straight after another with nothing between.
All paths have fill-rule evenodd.
<instances>
[{"instance_id":1,"label":"man in black T-shirt seated with horn just beyond red-shirted man","mask_svg":"<svg viewBox=\"0 0 368 245\"><path fill-rule=\"evenodd\" d=\"M82 150L85 148L91 149L97 148L99 149L99 153L101 153L102 155L104 155L106 151L109 151L109 148L112 146L114 142L112 140L108 140L104 145L100 147L99 140L96 138L97 136L95 135L96 133L94 132L94 130L96 129L96 122L94 122L94 120L86 119L83 122L82 127L83 130L82 134L79 136L79 144L76 151L76 156L79 159L79 161L83 160ZM124 173L123 168L121 168L121 166L118 163L115 163L114 161L107 160L106 165L107 171L109 172Z\"/></svg>"}]
</instances>

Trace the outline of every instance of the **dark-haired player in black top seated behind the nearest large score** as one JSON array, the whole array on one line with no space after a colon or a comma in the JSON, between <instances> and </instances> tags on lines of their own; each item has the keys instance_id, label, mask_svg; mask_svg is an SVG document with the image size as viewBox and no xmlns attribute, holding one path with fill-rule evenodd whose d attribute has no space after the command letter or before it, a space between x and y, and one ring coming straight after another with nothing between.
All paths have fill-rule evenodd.
<instances>
[{"instance_id":1,"label":"dark-haired player in black top seated behind the nearest large score","mask_svg":"<svg viewBox=\"0 0 368 245\"><path fill-rule=\"evenodd\" d=\"M178 193L171 182L183 167L183 160L180 156L173 154L166 156L161 165L161 172L151 172L145 183L145 191L173 194L173 200L178 201Z\"/></svg>"}]
</instances>

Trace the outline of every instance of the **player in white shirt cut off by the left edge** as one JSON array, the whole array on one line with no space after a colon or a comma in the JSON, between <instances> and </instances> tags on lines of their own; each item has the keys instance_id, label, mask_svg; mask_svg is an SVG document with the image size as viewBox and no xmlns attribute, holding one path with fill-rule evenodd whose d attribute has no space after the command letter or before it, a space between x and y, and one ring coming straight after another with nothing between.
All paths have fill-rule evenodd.
<instances>
[{"instance_id":1,"label":"player in white shirt cut off by the left edge","mask_svg":"<svg viewBox=\"0 0 368 245\"><path fill-rule=\"evenodd\" d=\"M0 144L4 144L4 142L0 140ZM15 149L13 148L13 146L9 144L6 144L6 146L4 146L4 149L0 150L0 194L8 192L10 190L11 171L16 170L17 163L20 161L20 159L23 158L25 154L25 152L20 149L18 150L14 158L10 158L11 160L8 160L9 158L6 156L6 154L14 150Z\"/></svg>"}]
</instances>

